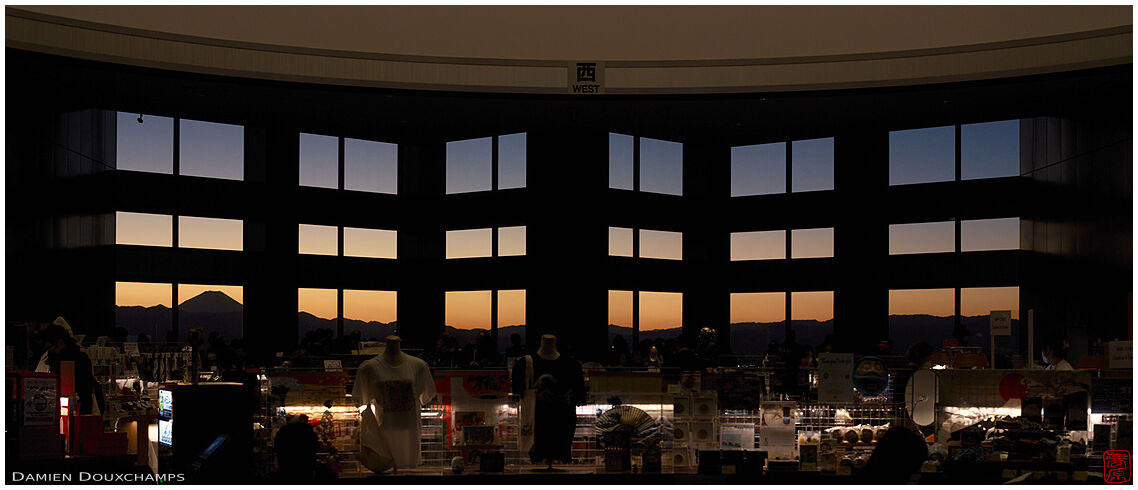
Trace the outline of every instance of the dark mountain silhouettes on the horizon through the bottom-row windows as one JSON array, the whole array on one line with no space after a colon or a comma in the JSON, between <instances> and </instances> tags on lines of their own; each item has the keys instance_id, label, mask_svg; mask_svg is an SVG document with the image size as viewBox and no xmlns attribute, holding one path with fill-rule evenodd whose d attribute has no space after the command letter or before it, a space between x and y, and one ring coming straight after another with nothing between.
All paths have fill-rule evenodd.
<instances>
[{"instance_id":1,"label":"dark mountain silhouettes on the horizon through the bottom-row windows","mask_svg":"<svg viewBox=\"0 0 1138 490\"><path fill-rule=\"evenodd\" d=\"M244 307L237 300L220 291L205 291L193 298L183 301L180 307L180 340L184 340L184 332L189 329L201 329L207 335L216 331L225 340L240 339L242 337ZM147 334L151 341L164 341L165 332L171 327L170 308L165 306L123 306L115 308L115 324L126 329L130 334ZM889 332L893 341L893 352L904 354L913 343L924 340L940 348L940 340L953 337L953 317L931 315L890 315ZM988 316L967 316L963 319L964 325L970 330L968 343L988 348ZM999 339L1000 349L1017 349L1019 321L1012 321L1012 337ZM310 313L297 313L297 326L300 338L307 332L319 329L330 329L336 332L336 319L320 318ZM363 340L381 340L395 332L397 322L364 322L360 319L344 319L344 333L351 334L358 330ZM510 344L510 335L519 333L525 338L525 325L510 325L498 327L498 349L505 350ZM642 331L641 340L674 339L679 337L681 327ZM822 343L826 334L833 332L833 319L825 322L817 321L794 321L794 333L797 342L811 347ZM459 346L465 346L475 340L477 330L460 330L446 326L446 333L457 340ZM632 348L632 329L619 325L609 325L609 344L616 335L622 335ZM781 322L777 323L735 323L732 324L731 348L736 354L761 354L767 349L772 340L783 342L785 331Z\"/></svg>"}]
</instances>

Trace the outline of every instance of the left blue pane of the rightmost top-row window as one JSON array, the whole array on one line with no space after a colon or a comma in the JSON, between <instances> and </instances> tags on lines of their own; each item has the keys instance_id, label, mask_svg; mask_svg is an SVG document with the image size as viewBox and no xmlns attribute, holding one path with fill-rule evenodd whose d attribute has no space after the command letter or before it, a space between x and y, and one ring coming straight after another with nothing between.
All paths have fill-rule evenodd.
<instances>
[{"instance_id":1,"label":"left blue pane of the rightmost top-row window","mask_svg":"<svg viewBox=\"0 0 1138 490\"><path fill-rule=\"evenodd\" d=\"M889 133L889 185L956 180L956 126Z\"/></svg>"}]
</instances>

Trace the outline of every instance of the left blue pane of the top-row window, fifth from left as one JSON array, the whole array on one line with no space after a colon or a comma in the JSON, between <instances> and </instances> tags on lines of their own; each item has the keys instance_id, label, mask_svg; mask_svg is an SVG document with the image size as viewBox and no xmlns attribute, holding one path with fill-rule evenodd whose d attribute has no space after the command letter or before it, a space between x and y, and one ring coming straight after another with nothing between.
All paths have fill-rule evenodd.
<instances>
[{"instance_id":1,"label":"left blue pane of the top-row window, fifth from left","mask_svg":"<svg viewBox=\"0 0 1138 490\"><path fill-rule=\"evenodd\" d=\"M786 192L786 143L731 149L731 196Z\"/></svg>"}]
</instances>

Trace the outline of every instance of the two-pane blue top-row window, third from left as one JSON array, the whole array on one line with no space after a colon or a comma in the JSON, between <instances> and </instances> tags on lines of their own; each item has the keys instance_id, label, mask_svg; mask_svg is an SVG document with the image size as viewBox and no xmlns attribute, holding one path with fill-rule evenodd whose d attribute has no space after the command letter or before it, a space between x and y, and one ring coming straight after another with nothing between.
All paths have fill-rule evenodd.
<instances>
[{"instance_id":1,"label":"two-pane blue top-row window, third from left","mask_svg":"<svg viewBox=\"0 0 1138 490\"><path fill-rule=\"evenodd\" d=\"M526 133L446 143L446 193L525 186Z\"/></svg>"}]
</instances>

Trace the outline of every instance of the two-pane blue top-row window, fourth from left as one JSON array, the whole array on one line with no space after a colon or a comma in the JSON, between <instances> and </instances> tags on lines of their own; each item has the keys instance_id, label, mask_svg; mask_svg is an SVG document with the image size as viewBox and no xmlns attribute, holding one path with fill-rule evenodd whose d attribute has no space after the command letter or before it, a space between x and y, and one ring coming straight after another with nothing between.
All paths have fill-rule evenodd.
<instances>
[{"instance_id":1,"label":"two-pane blue top-row window, fourth from left","mask_svg":"<svg viewBox=\"0 0 1138 490\"><path fill-rule=\"evenodd\" d=\"M683 196L684 144L609 133L609 188Z\"/></svg>"}]
</instances>

